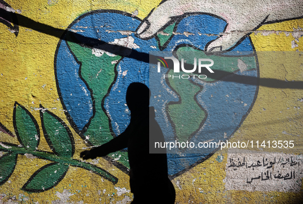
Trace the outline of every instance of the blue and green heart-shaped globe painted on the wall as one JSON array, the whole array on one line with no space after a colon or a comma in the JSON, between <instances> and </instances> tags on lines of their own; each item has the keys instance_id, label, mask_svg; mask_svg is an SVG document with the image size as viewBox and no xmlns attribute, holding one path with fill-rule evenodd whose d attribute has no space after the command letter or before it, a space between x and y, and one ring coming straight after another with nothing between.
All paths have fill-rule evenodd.
<instances>
[{"instance_id":1,"label":"blue and green heart-shaped globe painted on the wall","mask_svg":"<svg viewBox=\"0 0 303 204\"><path fill-rule=\"evenodd\" d=\"M230 138L257 95L258 64L250 38L224 55L207 56L203 50L224 31L223 19L184 16L149 40L135 36L140 22L120 11L92 11L75 19L59 41L54 60L57 89L74 130L88 145L100 145L119 135L130 121L126 89L132 82L142 82L155 87L151 105L168 141L197 144ZM199 58L219 62L212 66L216 74L207 79L159 80L160 75L174 73L150 69L148 55L171 51L178 57L195 52ZM179 175L216 150L175 148L168 154L169 174ZM126 151L110 156L118 167L128 168Z\"/></svg>"}]
</instances>

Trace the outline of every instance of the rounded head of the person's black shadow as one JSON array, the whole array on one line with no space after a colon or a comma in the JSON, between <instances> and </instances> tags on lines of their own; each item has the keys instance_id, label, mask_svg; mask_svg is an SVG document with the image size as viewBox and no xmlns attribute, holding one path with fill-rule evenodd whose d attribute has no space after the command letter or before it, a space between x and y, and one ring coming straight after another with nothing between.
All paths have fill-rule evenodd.
<instances>
[{"instance_id":1,"label":"rounded head of the person's black shadow","mask_svg":"<svg viewBox=\"0 0 303 204\"><path fill-rule=\"evenodd\" d=\"M131 83L126 92L126 103L130 111L147 108L150 95L150 90L145 84L139 82Z\"/></svg>"}]
</instances>

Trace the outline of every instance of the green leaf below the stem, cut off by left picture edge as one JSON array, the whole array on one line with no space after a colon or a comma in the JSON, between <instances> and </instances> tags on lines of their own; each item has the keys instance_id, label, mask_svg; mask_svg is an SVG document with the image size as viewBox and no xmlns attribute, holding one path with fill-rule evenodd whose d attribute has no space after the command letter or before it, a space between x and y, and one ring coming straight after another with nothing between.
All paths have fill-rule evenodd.
<instances>
[{"instance_id":1,"label":"green leaf below the stem, cut off by left picture edge","mask_svg":"<svg viewBox=\"0 0 303 204\"><path fill-rule=\"evenodd\" d=\"M17 163L17 154L8 152L0 157L0 185L3 185L12 175Z\"/></svg>"}]
</instances>

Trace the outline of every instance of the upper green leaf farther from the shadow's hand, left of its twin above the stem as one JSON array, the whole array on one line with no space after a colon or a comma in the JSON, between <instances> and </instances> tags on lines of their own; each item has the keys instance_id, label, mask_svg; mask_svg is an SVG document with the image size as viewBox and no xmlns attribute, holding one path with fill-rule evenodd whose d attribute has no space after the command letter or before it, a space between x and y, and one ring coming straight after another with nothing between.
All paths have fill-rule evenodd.
<instances>
[{"instance_id":1,"label":"upper green leaf farther from the shadow's hand, left of its twin above the stem","mask_svg":"<svg viewBox=\"0 0 303 204\"><path fill-rule=\"evenodd\" d=\"M30 112L17 102L14 105L13 125L20 144L27 150L36 150L40 141L38 123Z\"/></svg>"}]
</instances>

